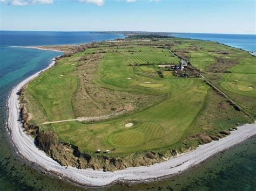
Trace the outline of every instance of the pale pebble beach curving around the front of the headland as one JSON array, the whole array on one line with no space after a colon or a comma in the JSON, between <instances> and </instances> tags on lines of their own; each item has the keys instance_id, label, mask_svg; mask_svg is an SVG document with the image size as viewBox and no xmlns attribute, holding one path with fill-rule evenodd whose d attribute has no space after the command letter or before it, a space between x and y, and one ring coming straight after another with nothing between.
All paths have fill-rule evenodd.
<instances>
[{"instance_id":1,"label":"pale pebble beach curving around the front of the headland","mask_svg":"<svg viewBox=\"0 0 256 191\"><path fill-rule=\"evenodd\" d=\"M52 60L51 64L44 70L50 68L54 64L55 60ZM60 166L56 161L36 147L34 140L26 133L22 127L22 123L19 121L17 92L24 86L24 84L38 76L40 72L33 74L19 83L18 86L11 91L9 96L8 129L10 131L12 143L17 148L19 155L24 159L41 167L46 172L56 174L80 185L107 186L117 181L153 181L164 176L172 176L199 164L220 151L226 150L227 148L256 135L256 124L245 124L240 126L238 130L232 131L230 136L222 138L219 141L212 141L211 143L200 145L196 150L148 167L130 167L114 172L77 169L75 167L65 168Z\"/></svg>"}]
</instances>

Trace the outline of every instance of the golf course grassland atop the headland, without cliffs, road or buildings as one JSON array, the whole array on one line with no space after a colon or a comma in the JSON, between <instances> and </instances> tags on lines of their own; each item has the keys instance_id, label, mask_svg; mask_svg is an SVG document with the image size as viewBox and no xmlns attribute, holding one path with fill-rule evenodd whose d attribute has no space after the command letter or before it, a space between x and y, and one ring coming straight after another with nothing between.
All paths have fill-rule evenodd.
<instances>
[{"instance_id":1,"label":"golf course grassland atop the headland, without cliffs, road or buildings","mask_svg":"<svg viewBox=\"0 0 256 191\"><path fill-rule=\"evenodd\" d=\"M191 64L204 71L212 67L216 56L221 54L209 51L218 49L228 52L221 54L225 59L247 56L247 53L238 49L213 42L169 41L175 45L174 52L184 51ZM98 48L60 59L56 66L28 84L25 98L33 116L31 121L41 125L42 129L53 128L61 142L74 144L80 151L93 153L97 149L116 148L111 154L177 148L183 140L198 132L217 132L225 129L225 126L246 122L247 118L241 112L234 113L235 110L228 104L224 104L225 115L221 115L225 99L212 93L200 78L176 77L170 71L164 71L164 78L159 77L158 64L177 64L179 59L168 49L159 48L162 41L152 41L152 45L146 45L149 44L146 42L144 46L143 43L137 45L121 41L117 46L110 46L111 43L105 42ZM95 55L98 57L93 57ZM82 56L88 56L87 61L81 61ZM92 62L95 64L92 65ZM144 63L151 65L140 65ZM86 69L82 70L83 67ZM240 73L218 74L214 82L224 91L255 100L256 74L248 72L254 67L250 57L240 59L238 65L228 68ZM84 94L77 98L80 92ZM118 100L114 100L117 97ZM98 115L101 110L103 114L112 113L116 105L124 107L132 101L134 105L143 104L136 110L131 109L125 115L106 121L41 124L45 121L74 119L81 116L77 114L79 108L83 108L86 111L83 114L87 116ZM219 104L220 108L217 107ZM207 115L211 119L208 120ZM226 120L232 115L237 116L237 120ZM127 128L127 123L133 123L133 126Z\"/></svg>"}]
</instances>

